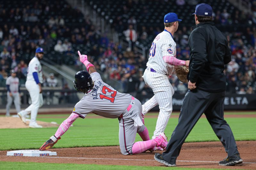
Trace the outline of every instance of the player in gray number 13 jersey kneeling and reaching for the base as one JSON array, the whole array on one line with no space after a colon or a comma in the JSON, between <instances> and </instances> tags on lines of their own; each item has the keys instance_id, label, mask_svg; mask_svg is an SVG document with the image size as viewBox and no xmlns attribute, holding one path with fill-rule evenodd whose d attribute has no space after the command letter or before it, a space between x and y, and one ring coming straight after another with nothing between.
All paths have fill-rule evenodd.
<instances>
[{"instance_id":1,"label":"player in gray number 13 jersey kneeling and reaching for the base","mask_svg":"<svg viewBox=\"0 0 256 170\"><path fill-rule=\"evenodd\" d=\"M84 93L84 97L76 103L72 114L61 123L55 135L50 137L40 150L52 148L78 117L85 118L89 113L118 118L119 144L121 153L124 155L141 153L155 146L165 148L167 138L164 133L150 140L148 129L142 121L140 101L130 94L117 92L104 83L94 65L87 60L87 55L81 55L79 51L78 54L80 61L89 72L78 71L75 75L74 86L77 91ZM143 142L134 143L136 133L140 135Z\"/></svg>"}]
</instances>

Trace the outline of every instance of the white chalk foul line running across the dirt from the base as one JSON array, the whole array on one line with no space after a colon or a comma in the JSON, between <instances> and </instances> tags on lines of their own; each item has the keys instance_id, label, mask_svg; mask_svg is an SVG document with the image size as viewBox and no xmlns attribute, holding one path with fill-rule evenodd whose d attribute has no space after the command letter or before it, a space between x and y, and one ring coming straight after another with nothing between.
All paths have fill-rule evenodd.
<instances>
[{"instance_id":1,"label":"white chalk foul line running across the dirt from the base","mask_svg":"<svg viewBox=\"0 0 256 170\"><path fill-rule=\"evenodd\" d=\"M66 159L96 159L96 160L139 160L139 161L155 161L152 159L115 159L115 158L76 158L76 157L60 157L60 156L40 156L40 158L66 158ZM210 162L219 163L216 161L196 161L196 160L176 160L177 162ZM243 162L243 164L256 164L256 162Z\"/></svg>"}]
</instances>

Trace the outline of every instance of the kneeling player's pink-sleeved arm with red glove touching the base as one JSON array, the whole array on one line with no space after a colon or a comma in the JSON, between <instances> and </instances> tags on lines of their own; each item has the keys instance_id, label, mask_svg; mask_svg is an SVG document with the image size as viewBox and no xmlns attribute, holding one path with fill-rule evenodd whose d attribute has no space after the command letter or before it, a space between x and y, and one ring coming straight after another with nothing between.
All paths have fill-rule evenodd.
<instances>
[{"instance_id":1,"label":"kneeling player's pink-sleeved arm with red glove touching the base","mask_svg":"<svg viewBox=\"0 0 256 170\"><path fill-rule=\"evenodd\" d=\"M72 113L68 119L66 119L65 121L63 121L60 125L60 127L58 128L58 130L56 131L55 135L53 135L52 137L50 137L49 140L47 140L39 149L40 151L44 151L46 149L50 149L53 147L54 144L56 144L58 142L58 140L60 140L60 137L68 130L68 128L72 125L73 122L75 122L75 120L78 118L79 116L75 113Z\"/></svg>"}]
</instances>

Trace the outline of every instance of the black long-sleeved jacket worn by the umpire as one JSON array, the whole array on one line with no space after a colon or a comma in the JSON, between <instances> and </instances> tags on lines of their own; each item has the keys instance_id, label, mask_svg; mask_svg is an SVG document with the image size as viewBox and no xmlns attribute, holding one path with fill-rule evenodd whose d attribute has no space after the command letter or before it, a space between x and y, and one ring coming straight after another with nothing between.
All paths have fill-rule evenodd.
<instances>
[{"instance_id":1,"label":"black long-sleeved jacket worn by the umpire","mask_svg":"<svg viewBox=\"0 0 256 170\"><path fill-rule=\"evenodd\" d=\"M224 64L231 61L227 38L213 22L199 23L189 39L190 62L188 80L206 92L226 91Z\"/></svg>"}]
</instances>

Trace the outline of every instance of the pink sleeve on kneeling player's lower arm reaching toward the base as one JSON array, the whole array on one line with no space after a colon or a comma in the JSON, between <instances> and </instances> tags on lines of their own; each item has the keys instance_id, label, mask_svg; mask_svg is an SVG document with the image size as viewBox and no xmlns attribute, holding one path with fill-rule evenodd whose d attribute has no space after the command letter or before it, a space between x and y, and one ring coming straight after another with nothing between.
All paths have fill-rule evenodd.
<instances>
[{"instance_id":1,"label":"pink sleeve on kneeling player's lower arm reaching toward the base","mask_svg":"<svg viewBox=\"0 0 256 170\"><path fill-rule=\"evenodd\" d=\"M63 121L59 127L59 129L57 130L57 132L55 133L55 137L58 139L59 137L61 137L67 130L68 128L72 125L72 123L78 118L79 116L75 113L72 113L68 119L66 119L65 121Z\"/></svg>"}]
</instances>

